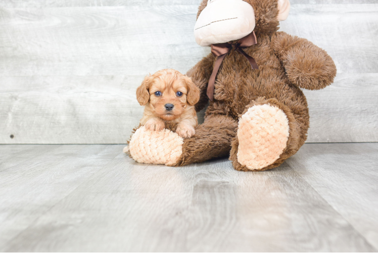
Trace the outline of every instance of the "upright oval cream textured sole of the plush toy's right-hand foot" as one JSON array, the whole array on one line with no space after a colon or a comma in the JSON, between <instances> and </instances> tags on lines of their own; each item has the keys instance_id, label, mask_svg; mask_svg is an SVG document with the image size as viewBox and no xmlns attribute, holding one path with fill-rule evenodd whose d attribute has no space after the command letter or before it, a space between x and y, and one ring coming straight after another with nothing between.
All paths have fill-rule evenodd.
<instances>
[{"instance_id":1,"label":"upright oval cream textured sole of the plush toy's right-hand foot","mask_svg":"<svg viewBox=\"0 0 378 253\"><path fill-rule=\"evenodd\" d=\"M261 170L279 158L288 138L286 114L269 104L255 105L239 121L238 161L249 170Z\"/></svg>"}]
</instances>

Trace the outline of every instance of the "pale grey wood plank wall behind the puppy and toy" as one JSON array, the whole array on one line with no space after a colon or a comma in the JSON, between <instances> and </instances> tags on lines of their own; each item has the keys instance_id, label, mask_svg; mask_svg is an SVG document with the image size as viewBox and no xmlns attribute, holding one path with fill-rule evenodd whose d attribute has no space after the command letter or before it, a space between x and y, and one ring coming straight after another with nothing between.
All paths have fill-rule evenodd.
<instances>
[{"instance_id":1,"label":"pale grey wood plank wall behind the puppy and toy","mask_svg":"<svg viewBox=\"0 0 378 253\"><path fill-rule=\"evenodd\" d=\"M125 143L143 77L210 52L193 36L199 2L1 0L0 143ZM378 141L378 1L291 2L280 30L338 68L334 85L304 91L308 142Z\"/></svg>"}]
</instances>

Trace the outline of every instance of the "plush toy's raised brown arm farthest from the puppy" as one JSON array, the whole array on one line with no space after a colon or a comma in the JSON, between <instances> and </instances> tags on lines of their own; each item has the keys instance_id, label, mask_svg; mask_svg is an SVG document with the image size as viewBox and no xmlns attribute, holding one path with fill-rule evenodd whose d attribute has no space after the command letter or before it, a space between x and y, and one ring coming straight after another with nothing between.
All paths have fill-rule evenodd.
<instances>
[{"instance_id":1,"label":"plush toy's raised brown arm farthest from the puppy","mask_svg":"<svg viewBox=\"0 0 378 253\"><path fill-rule=\"evenodd\" d=\"M307 90L320 90L334 81L334 61L307 39L275 32L271 46L294 85Z\"/></svg>"}]
</instances>

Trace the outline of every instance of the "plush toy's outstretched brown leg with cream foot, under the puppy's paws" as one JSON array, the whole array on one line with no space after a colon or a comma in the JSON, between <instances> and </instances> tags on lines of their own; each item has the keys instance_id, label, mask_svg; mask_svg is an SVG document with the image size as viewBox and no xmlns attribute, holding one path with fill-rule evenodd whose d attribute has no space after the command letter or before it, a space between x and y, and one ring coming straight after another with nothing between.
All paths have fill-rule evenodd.
<instances>
[{"instance_id":1,"label":"plush toy's outstretched brown leg with cream foot, under the puppy's paws","mask_svg":"<svg viewBox=\"0 0 378 253\"><path fill-rule=\"evenodd\" d=\"M238 122L224 115L209 115L191 138L181 138L168 129L150 131L144 126L132 135L124 149L140 163L182 166L227 156L236 136Z\"/></svg>"}]
</instances>

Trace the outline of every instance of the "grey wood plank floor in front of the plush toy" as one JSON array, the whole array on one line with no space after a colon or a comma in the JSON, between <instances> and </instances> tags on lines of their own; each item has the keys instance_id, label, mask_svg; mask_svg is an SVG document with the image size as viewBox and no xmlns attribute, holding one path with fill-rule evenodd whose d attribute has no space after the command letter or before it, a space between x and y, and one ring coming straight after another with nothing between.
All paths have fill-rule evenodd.
<instances>
[{"instance_id":1,"label":"grey wood plank floor in front of the plush toy","mask_svg":"<svg viewBox=\"0 0 378 253\"><path fill-rule=\"evenodd\" d=\"M378 249L378 143L305 144L260 173L122 148L0 145L0 252Z\"/></svg>"}]
</instances>

